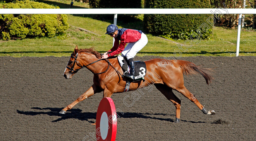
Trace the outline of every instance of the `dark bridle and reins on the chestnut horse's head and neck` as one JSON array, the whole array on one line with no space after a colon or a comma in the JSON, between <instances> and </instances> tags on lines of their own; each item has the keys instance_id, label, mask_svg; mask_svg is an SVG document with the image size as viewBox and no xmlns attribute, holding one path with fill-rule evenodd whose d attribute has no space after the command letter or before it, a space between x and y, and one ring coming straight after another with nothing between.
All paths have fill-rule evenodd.
<instances>
[{"instance_id":1,"label":"dark bridle and reins on the chestnut horse's head and neck","mask_svg":"<svg viewBox=\"0 0 256 141\"><path fill-rule=\"evenodd\" d=\"M73 56L73 55L71 54L71 57L72 57L72 58L75 58L74 64L73 64L73 66L72 66L71 68L68 67L68 66L66 66L66 68L68 68L68 69L70 70L70 71L69 71L70 74L73 74L74 72L77 72L78 70L80 70L80 69L82 69L82 68L84 68L84 67L87 67L87 66L89 66L89 65L91 65L91 64L94 64L94 63L96 63L96 62L98 62L98 61L100 61L100 60L103 60L103 59L99 59L99 60L97 60L97 61L94 61L94 62L92 62L92 63L86 65L86 66L82 66L82 65L77 61L77 56L78 56L78 53L76 53L76 56ZM103 72L100 72L100 73L93 73L93 74L98 75L98 74L103 74L103 73L107 72L108 69L109 69L109 65L110 65L111 67L113 67L114 70L116 70L116 68L108 61L108 59L105 59L105 61L108 62L108 68L107 68L105 71L103 71ZM79 67L81 67L81 68L74 70L75 63L76 63L77 66L79 66ZM118 70L116 70L116 71L123 77L123 75L122 75Z\"/></svg>"}]
</instances>

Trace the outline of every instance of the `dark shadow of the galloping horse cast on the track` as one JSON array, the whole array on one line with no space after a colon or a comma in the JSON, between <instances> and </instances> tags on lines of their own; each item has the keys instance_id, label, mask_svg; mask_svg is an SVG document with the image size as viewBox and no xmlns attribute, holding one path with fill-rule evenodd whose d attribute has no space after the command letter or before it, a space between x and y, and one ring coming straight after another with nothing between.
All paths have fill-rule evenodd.
<instances>
[{"instance_id":1,"label":"dark shadow of the galloping horse cast on the track","mask_svg":"<svg viewBox=\"0 0 256 141\"><path fill-rule=\"evenodd\" d=\"M94 123L91 121L91 119L96 119L96 112L82 112L80 109L71 109L66 114L59 114L59 111L62 110L62 108L39 108L39 107L33 107L31 109L37 109L37 110L50 110L50 111L40 111L40 112L34 112L34 111L20 111L17 110L17 113L23 114L23 115L41 115L46 114L49 116L59 116L59 119L53 120L52 122L58 122L65 119L78 119L82 121L87 121L90 123ZM117 112L118 118L142 118L142 119L157 119L161 121L169 121L174 122L173 119L170 118L159 118L159 117L152 117L154 115L162 115L162 116L175 116L175 115L169 115L169 114L163 114L163 113L135 113L135 112ZM183 121L183 120L181 120ZM183 122L192 122L192 121L183 121ZM192 122L197 123L197 122ZM201 122L202 123L202 122Z\"/></svg>"}]
</instances>

